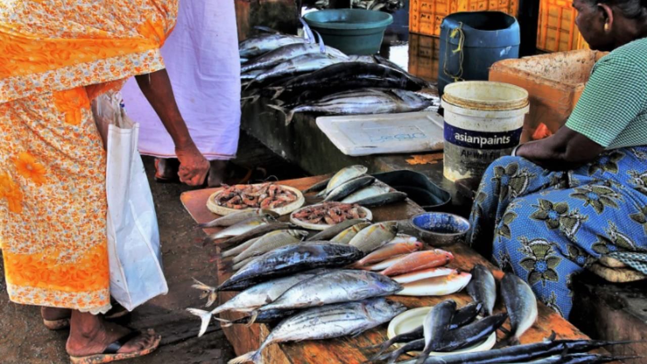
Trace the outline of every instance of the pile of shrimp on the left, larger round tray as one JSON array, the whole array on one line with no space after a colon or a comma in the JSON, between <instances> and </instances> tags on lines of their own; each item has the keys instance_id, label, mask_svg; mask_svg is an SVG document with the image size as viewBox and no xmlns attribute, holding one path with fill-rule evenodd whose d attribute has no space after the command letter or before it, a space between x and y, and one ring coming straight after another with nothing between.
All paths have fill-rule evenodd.
<instances>
[{"instance_id":1,"label":"pile of shrimp on the left, larger round tray","mask_svg":"<svg viewBox=\"0 0 647 364\"><path fill-rule=\"evenodd\" d=\"M276 209L296 201L294 192L274 183L236 185L225 188L215 203L229 209Z\"/></svg>"}]
</instances>

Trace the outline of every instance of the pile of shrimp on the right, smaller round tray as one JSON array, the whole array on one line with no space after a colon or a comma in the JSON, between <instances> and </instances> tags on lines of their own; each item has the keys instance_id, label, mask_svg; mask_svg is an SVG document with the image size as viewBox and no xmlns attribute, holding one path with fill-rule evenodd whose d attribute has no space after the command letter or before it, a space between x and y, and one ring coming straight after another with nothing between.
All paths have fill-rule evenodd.
<instances>
[{"instance_id":1,"label":"pile of shrimp on the right, smaller round tray","mask_svg":"<svg viewBox=\"0 0 647 364\"><path fill-rule=\"evenodd\" d=\"M356 204L324 202L304 207L294 212L292 217L307 223L336 225L345 220L366 218L366 211Z\"/></svg>"}]
</instances>

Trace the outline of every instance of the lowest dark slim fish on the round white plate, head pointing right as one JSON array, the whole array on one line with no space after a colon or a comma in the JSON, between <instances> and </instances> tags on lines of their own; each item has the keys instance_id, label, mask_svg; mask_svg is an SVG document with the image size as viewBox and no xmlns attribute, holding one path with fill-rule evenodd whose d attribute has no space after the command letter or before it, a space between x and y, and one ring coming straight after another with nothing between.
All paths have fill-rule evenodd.
<instances>
[{"instance_id":1,"label":"lowest dark slim fish on the round white plate, head pointing right","mask_svg":"<svg viewBox=\"0 0 647 364\"><path fill-rule=\"evenodd\" d=\"M506 313L498 313L476 321L476 323L447 332L441 341L441 345L436 347L435 350L438 352L452 352L481 343L501 327L507 318ZM421 363L417 362L417 364Z\"/></svg>"}]
</instances>

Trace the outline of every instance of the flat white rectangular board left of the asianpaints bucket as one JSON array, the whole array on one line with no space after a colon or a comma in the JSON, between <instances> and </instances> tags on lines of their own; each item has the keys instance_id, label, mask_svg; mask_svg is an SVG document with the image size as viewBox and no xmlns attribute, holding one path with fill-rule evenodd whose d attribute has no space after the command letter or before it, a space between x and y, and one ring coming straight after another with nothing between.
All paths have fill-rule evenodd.
<instances>
[{"instance_id":1,"label":"flat white rectangular board left of the asianpaints bucket","mask_svg":"<svg viewBox=\"0 0 647 364\"><path fill-rule=\"evenodd\" d=\"M433 111L318 117L316 123L345 155L443 150L443 117Z\"/></svg>"}]
</instances>

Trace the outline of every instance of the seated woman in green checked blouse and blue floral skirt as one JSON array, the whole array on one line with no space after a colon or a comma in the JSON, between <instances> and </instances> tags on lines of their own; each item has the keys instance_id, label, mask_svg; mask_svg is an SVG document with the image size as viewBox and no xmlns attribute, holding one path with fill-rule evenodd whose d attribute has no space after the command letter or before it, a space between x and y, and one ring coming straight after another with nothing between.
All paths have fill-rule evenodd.
<instances>
[{"instance_id":1,"label":"seated woman in green checked blouse and blue floral skirt","mask_svg":"<svg viewBox=\"0 0 647 364\"><path fill-rule=\"evenodd\" d=\"M591 49L611 52L563 128L488 168L468 239L564 317L575 273L647 247L647 1L573 6Z\"/></svg>"}]
</instances>

